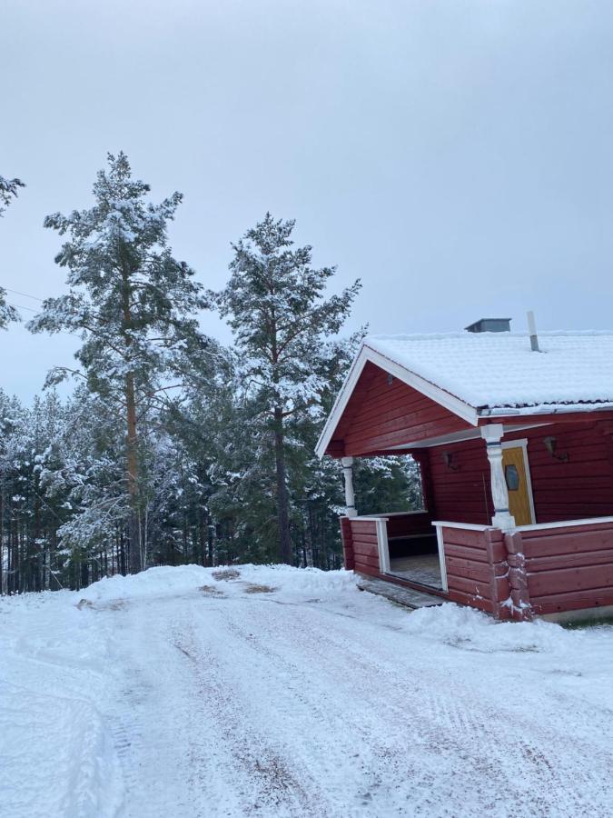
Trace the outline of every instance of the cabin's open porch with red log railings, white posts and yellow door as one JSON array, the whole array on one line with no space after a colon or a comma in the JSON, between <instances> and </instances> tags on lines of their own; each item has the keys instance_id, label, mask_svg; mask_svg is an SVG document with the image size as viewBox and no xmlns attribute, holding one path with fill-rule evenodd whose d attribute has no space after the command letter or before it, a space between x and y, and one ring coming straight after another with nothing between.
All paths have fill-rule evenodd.
<instances>
[{"instance_id":1,"label":"cabin's open porch with red log railings, white posts and yellow door","mask_svg":"<svg viewBox=\"0 0 613 818\"><path fill-rule=\"evenodd\" d=\"M511 428L504 439L493 425L480 440L411 453L421 470L425 507L418 511L357 514L352 458L343 458L351 504L341 518L346 567L500 619L613 605L609 427L535 425ZM559 444L553 452L551 439ZM594 463L596 444L604 456ZM581 516L581 509L600 514ZM440 519L440 510L457 518Z\"/></svg>"}]
</instances>

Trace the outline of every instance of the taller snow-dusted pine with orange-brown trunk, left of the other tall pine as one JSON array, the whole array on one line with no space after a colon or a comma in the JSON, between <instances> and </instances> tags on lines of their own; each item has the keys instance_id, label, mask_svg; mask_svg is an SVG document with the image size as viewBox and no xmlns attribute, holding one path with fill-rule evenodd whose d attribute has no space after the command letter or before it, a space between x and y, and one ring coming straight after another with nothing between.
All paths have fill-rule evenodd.
<instances>
[{"instance_id":1,"label":"taller snow-dusted pine with orange-brown trunk, left of the other tall pine","mask_svg":"<svg viewBox=\"0 0 613 818\"><path fill-rule=\"evenodd\" d=\"M69 292L50 298L30 322L33 332L79 334L77 370L54 369L47 385L68 375L116 407L125 424L125 485L130 507L130 567L143 566L143 460L140 434L153 407L181 377L205 341L196 312L205 306L193 270L177 261L167 224L182 195L145 201L149 185L133 179L124 153L108 155L94 183L94 207L46 217L44 226L68 240L55 262L68 269Z\"/></svg>"}]
</instances>

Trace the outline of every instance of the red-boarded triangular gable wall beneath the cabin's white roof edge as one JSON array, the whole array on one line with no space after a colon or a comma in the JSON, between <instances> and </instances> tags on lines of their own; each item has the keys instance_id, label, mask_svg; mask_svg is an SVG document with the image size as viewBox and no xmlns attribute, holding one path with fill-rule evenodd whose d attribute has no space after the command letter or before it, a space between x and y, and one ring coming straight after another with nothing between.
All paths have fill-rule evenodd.
<instances>
[{"instance_id":1,"label":"red-boarded triangular gable wall beneath the cabin's white roof edge","mask_svg":"<svg viewBox=\"0 0 613 818\"><path fill-rule=\"evenodd\" d=\"M470 428L416 389L374 364L367 364L347 404L333 440L344 444L344 454L370 454L390 446L425 440Z\"/></svg>"}]
</instances>

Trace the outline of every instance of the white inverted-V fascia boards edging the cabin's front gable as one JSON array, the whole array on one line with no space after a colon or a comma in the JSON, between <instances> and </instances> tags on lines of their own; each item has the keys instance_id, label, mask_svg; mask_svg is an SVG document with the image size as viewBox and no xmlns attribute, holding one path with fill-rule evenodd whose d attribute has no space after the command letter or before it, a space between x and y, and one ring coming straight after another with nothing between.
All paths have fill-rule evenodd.
<instances>
[{"instance_id":1,"label":"white inverted-V fascia boards edging the cabin's front gable","mask_svg":"<svg viewBox=\"0 0 613 818\"><path fill-rule=\"evenodd\" d=\"M420 375L410 372L409 369L405 369L404 366L392 361L391 358L388 358L386 355L377 352L366 344L362 344L353 364L351 364L351 370L345 379L345 383L342 384L341 392L334 402L330 417L326 421L320 439L315 447L315 453L318 457L321 458L323 454L325 454L328 444L330 444L332 434L334 434L334 430L341 420L342 413L349 403L351 394L353 394L353 390L358 383L364 366L369 361L371 364L379 366L384 372L398 378L402 383L412 386L435 403L440 404L440 406L443 406L445 409L449 409L453 414L457 414L462 420L467 421L467 423L473 426L479 424L479 414L474 406L465 404L464 401L460 401L460 398L457 398L449 392L445 392L440 386L431 384L430 381L426 381L420 377Z\"/></svg>"}]
</instances>

